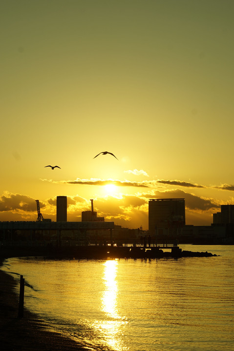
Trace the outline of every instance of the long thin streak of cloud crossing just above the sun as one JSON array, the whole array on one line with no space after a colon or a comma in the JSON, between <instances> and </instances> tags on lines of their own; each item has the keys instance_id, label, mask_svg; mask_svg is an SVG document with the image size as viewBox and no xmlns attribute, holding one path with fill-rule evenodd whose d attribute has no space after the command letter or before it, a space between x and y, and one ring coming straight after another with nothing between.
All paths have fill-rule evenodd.
<instances>
[{"instance_id":1,"label":"long thin streak of cloud crossing just above the sun","mask_svg":"<svg viewBox=\"0 0 234 351\"><path fill-rule=\"evenodd\" d=\"M47 179L41 179L43 181L48 181L50 183L62 183L62 184L76 184L76 185L107 185L107 184L114 184L117 186L123 186L123 187L138 187L138 188L149 188L150 184L152 182L147 182L147 181L141 181L141 182L133 182L129 180L114 180L114 179L80 179L76 178L76 180L60 180L60 181L54 181L54 180L47 180Z\"/></svg>"}]
</instances>

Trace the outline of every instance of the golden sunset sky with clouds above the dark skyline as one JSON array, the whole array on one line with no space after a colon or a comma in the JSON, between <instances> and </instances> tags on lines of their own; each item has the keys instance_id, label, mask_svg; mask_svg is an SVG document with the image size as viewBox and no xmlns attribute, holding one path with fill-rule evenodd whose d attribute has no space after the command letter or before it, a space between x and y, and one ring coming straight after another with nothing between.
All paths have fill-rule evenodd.
<instances>
[{"instance_id":1,"label":"golden sunset sky with clouds above the dark skyline","mask_svg":"<svg viewBox=\"0 0 234 351\"><path fill-rule=\"evenodd\" d=\"M149 198L183 197L210 225L234 204L233 19L233 0L0 1L0 220L36 199L56 220L66 195L69 221L93 198L148 229Z\"/></svg>"}]
</instances>

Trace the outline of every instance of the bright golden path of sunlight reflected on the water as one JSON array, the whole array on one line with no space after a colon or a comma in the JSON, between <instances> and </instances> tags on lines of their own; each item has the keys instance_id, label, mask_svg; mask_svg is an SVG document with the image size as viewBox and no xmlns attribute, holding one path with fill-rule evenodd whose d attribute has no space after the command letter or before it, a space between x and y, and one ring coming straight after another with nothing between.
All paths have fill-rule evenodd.
<instances>
[{"instance_id":1,"label":"bright golden path of sunlight reflected on the water","mask_svg":"<svg viewBox=\"0 0 234 351\"><path fill-rule=\"evenodd\" d=\"M118 260L107 260L103 263L103 266L105 289L102 294L100 308L101 311L106 314L106 319L99 321L95 327L102 331L105 342L111 349L116 351L127 351L128 347L124 345L121 335L123 332L123 325L128 322L126 317L119 314L117 307L119 289L116 281L116 274L118 271Z\"/></svg>"}]
</instances>

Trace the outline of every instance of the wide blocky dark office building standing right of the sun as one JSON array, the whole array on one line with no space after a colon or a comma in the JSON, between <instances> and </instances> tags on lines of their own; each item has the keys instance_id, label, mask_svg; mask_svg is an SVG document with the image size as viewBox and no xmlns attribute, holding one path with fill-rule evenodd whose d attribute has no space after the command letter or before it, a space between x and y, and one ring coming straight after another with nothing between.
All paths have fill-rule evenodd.
<instances>
[{"instance_id":1,"label":"wide blocky dark office building standing right of the sun","mask_svg":"<svg viewBox=\"0 0 234 351\"><path fill-rule=\"evenodd\" d=\"M149 233L150 235L185 225L185 199L165 198L149 199Z\"/></svg>"}]
</instances>

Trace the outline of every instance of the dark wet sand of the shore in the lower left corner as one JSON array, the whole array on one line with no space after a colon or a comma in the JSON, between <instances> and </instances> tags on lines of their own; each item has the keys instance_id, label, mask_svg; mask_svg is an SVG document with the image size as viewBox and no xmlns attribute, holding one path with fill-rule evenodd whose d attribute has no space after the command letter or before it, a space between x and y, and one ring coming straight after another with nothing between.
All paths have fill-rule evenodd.
<instances>
[{"instance_id":1,"label":"dark wet sand of the shore in the lower left corner","mask_svg":"<svg viewBox=\"0 0 234 351\"><path fill-rule=\"evenodd\" d=\"M0 259L0 266L2 264ZM43 330L36 314L24 308L18 317L19 294L14 292L14 278L0 270L0 347L3 351L84 351L87 350L63 335Z\"/></svg>"}]
</instances>

